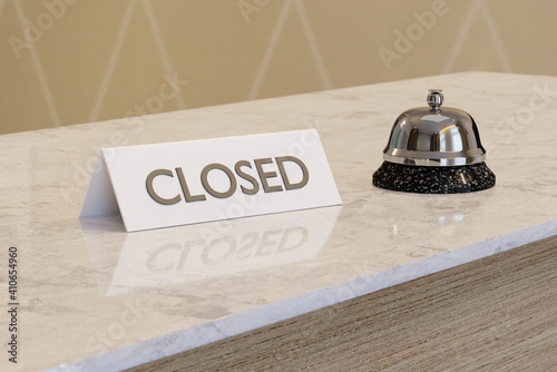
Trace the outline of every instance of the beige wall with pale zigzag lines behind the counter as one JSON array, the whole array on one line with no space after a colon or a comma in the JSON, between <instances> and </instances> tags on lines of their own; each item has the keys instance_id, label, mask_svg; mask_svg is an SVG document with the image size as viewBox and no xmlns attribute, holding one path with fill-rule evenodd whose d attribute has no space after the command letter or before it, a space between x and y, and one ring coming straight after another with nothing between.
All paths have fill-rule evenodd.
<instances>
[{"instance_id":1,"label":"beige wall with pale zigzag lines behind the counter","mask_svg":"<svg viewBox=\"0 0 557 372\"><path fill-rule=\"evenodd\" d=\"M0 0L0 134L461 70L557 75L556 13L553 0Z\"/></svg>"}]
</instances>

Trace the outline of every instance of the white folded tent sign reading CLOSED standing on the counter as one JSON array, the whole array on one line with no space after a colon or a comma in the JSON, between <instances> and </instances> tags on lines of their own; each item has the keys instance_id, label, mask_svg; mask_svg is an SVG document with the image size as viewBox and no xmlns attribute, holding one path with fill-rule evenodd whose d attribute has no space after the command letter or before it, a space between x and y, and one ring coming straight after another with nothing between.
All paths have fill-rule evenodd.
<instances>
[{"instance_id":1,"label":"white folded tent sign reading CLOSED standing on the counter","mask_svg":"<svg viewBox=\"0 0 557 372\"><path fill-rule=\"evenodd\" d=\"M310 129L105 148L81 217L119 209L135 232L340 204Z\"/></svg>"}]
</instances>

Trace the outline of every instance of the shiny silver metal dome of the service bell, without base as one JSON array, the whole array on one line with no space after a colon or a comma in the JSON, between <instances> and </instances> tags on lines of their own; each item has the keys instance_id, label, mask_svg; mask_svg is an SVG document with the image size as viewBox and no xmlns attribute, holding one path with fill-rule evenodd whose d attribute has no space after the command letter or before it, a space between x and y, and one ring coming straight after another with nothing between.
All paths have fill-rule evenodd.
<instances>
[{"instance_id":1,"label":"shiny silver metal dome of the service bell, without base","mask_svg":"<svg viewBox=\"0 0 557 372\"><path fill-rule=\"evenodd\" d=\"M481 163L481 146L472 117L460 109L443 107L441 90L428 95L430 107L402 112L391 130L383 159L419 166L459 166Z\"/></svg>"}]
</instances>

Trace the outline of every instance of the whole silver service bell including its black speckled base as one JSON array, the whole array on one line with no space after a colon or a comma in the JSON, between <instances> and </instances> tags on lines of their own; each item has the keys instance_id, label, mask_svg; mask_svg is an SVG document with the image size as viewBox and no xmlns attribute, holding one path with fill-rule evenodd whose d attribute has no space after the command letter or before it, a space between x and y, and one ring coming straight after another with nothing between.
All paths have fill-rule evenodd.
<instances>
[{"instance_id":1,"label":"whole silver service bell including its black speckled base","mask_svg":"<svg viewBox=\"0 0 557 372\"><path fill-rule=\"evenodd\" d=\"M397 118L373 185L419 194L472 193L495 186L476 121L466 111L441 108L442 104L441 90L432 89L429 107L412 108Z\"/></svg>"}]
</instances>

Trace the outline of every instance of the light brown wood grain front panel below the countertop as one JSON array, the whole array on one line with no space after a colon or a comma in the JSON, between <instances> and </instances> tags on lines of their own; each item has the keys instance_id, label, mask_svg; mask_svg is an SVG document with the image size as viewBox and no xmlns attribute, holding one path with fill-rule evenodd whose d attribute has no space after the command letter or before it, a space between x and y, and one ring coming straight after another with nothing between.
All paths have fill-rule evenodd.
<instances>
[{"instance_id":1,"label":"light brown wood grain front panel below the countertop","mask_svg":"<svg viewBox=\"0 0 557 372\"><path fill-rule=\"evenodd\" d=\"M557 236L130 371L557 371Z\"/></svg>"}]
</instances>

